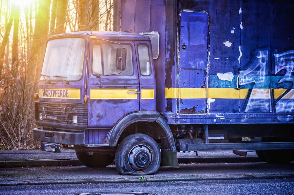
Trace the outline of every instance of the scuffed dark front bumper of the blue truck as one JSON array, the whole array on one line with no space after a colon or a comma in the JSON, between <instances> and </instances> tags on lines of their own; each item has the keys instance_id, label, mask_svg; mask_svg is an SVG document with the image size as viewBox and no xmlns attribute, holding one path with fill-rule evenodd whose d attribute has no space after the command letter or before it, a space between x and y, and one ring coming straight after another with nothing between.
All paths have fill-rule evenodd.
<instances>
[{"instance_id":1,"label":"scuffed dark front bumper of the blue truck","mask_svg":"<svg viewBox=\"0 0 294 195\"><path fill-rule=\"evenodd\" d=\"M33 129L34 140L40 142L57 143L65 145L84 145L85 133L84 132L62 132L62 131L49 131L39 128Z\"/></svg>"}]
</instances>

